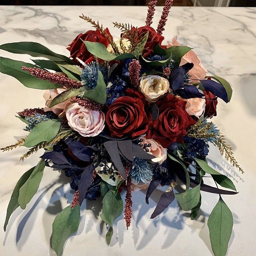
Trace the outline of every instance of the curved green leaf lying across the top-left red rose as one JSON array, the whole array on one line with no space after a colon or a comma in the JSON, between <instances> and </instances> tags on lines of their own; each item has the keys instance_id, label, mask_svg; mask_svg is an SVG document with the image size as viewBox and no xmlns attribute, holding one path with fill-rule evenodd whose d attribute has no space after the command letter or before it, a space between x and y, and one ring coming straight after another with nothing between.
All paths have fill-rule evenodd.
<instances>
[{"instance_id":1,"label":"curved green leaf lying across the top-left red rose","mask_svg":"<svg viewBox=\"0 0 256 256\"><path fill-rule=\"evenodd\" d=\"M127 58L134 58L133 54L130 53L124 53L120 54L119 56L108 52L104 44L98 43L98 42L89 42L89 41L83 41L86 49L88 52L90 52L92 55L106 61L110 60L125 60Z\"/></svg>"}]
</instances>

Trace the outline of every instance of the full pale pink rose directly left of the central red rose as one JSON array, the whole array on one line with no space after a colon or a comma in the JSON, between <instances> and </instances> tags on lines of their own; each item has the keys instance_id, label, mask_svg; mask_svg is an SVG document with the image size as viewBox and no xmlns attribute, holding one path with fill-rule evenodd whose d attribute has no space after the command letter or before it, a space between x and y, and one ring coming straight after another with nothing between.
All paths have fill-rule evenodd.
<instances>
[{"instance_id":1,"label":"full pale pink rose directly left of the central red rose","mask_svg":"<svg viewBox=\"0 0 256 256\"><path fill-rule=\"evenodd\" d=\"M73 103L66 111L68 125L83 137L94 137L105 127L105 115Z\"/></svg>"}]
</instances>

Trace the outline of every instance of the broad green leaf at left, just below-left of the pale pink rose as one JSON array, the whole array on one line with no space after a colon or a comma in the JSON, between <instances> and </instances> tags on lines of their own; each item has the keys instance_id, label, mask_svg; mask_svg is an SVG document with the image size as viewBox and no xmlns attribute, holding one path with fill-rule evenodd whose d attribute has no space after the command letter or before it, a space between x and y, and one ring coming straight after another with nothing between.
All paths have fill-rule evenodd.
<instances>
[{"instance_id":1,"label":"broad green leaf at left, just below-left of the pale pink rose","mask_svg":"<svg viewBox=\"0 0 256 256\"><path fill-rule=\"evenodd\" d=\"M28 134L23 146L30 148L40 142L53 140L60 130L60 119L51 119L37 124Z\"/></svg>"}]
</instances>

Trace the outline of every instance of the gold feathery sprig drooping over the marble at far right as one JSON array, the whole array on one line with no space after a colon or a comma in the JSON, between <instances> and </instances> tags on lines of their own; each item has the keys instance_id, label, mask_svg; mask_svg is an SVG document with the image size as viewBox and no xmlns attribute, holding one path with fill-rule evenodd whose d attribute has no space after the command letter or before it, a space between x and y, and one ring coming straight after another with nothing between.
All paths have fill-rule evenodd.
<instances>
[{"instance_id":1,"label":"gold feathery sprig drooping over the marble at far right","mask_svg":"<svg viewBox=\"0 0 256 256\"><path fill-rule=\"evenodd\" d=\"M244 170L238 164L236 158L234 158L233 148L226 142L225 136L223 134L219 133L212 143L220 150L220 154L222 156L224 155L225 159L229 161L232 166L236 167L240 172L244 173Z\"/></svg>"}]
</instances>

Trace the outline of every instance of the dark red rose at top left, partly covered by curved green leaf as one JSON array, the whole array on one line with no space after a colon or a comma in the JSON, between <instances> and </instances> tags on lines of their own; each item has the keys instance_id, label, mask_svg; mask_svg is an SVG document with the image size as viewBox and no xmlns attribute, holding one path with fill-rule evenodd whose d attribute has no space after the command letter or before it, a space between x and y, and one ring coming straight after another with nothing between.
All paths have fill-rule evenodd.
<instances>
[{"instance_id":1,"label":"dark red rose at top left, partly covered by curved green leaf","mask_svg":"<svg viewBox=\"0 0 256 256\"><path fill-rule=\"evenodd\" d=\"M108 28L106 28L106 32L110 35L110 32ZM112 38L112 36L110 35ZM76 60L76 57L78 57L80 60L85 62L86 64L94 60L94 57L88 50L86 49L86 46L84 42L82 41L89 41L89 42L98 42L101 44L104 44L106 47L109 44L108 39L106 36L102 35L100 30L89 30L84 34L79 34L71 44L68 45L68 50L70 51L70 57L73 58L74 62L81 66L81 64Z\"/></svg>"}]
</instances>

